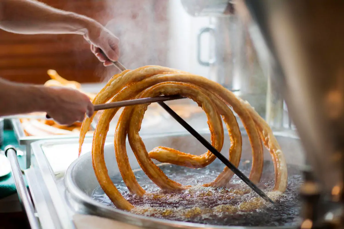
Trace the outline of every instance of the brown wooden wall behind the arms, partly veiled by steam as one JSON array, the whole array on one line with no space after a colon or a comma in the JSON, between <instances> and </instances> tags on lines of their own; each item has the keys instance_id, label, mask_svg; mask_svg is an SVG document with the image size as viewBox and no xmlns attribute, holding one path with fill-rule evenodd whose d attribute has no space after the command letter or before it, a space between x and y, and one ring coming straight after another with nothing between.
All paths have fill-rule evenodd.
<instances>
[{"instance_id":1,"label":"brown wooden wall behind the arms, partly veiled by steam","mask_svg":"<svg viewBox=\"0 0 344 229\"><path fill-rule=\"evenodd\" d=\"M167 0L42 0L96 19L120 38L127 68L166 65ZM118 72L103 67L79 35L21 35L0 30L0 77L44 83L46 71L78 82L100 82Z\"/></svg>"}]
</instances>

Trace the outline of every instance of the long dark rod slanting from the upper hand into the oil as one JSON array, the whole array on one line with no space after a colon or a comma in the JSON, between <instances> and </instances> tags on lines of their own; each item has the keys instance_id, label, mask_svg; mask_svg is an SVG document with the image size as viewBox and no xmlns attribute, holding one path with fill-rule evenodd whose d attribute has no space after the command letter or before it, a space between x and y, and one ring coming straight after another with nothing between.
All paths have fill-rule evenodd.
<instances>
[{"instance_id":1,"label":"long dark rod slanting from the upper hand into the oil","mask_svg":"<svg viewBox=\"0 0 344 229\"><path fill-rule=\"evenodd\" d=\"M103 51L101 51L104 56ZM126 68L120 64L120 62L116 61L113 62L113 64L121 71L126 70ZM205 140L197 131L192 128L187 122L184 121L183 118L181 118L177 113L175 113L168 105L166 105L164 102L158 102L159 105L165 109L177 122L179 122L187 131L189 131L190 134L192 134L198 141L202 143L203 146L205 146L209 151L211 151L218 159L220 159L230 170L234 172L235 175L237 175L242 181L244 181L250 188L252 188L253 191L255 191L260 197L262 197L265 201L268 201L274 205L275 202L273 202L263 191L261 191L260 188L258 188L252 181L248 179L247 176L245 176L244 173L242 173L238 168L236 168L227 158L225 158L219 151L217 151L207 140Z\"/></svg>"}]
</instances>

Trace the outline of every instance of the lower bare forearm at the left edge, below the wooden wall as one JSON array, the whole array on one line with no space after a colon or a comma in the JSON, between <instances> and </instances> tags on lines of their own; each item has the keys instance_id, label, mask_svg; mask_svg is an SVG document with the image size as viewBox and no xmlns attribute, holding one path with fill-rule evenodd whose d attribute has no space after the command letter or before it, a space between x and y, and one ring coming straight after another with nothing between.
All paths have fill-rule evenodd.
<instances>
[{"instance_id":1,"label":"lower bare forearm at the left edge, below the wooden wall","mask_svg":"<svg viewBox=\"0 0 344 229\"><path fill-rule=\"evenodd\" d=\"M47 87L0 79L0 116L46 112L53 102L50 97Z\"/></svg>"}]
</instances>

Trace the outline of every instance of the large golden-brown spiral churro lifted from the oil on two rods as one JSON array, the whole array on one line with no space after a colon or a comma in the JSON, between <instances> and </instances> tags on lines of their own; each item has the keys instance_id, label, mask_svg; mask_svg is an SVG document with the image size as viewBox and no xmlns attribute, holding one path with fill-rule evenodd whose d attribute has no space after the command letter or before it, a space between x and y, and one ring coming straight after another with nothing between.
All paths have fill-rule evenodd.
<instances>
[{"instance_id":1,"label":"large golden-brown spiral churro lifted from the oil on two rods","mask_svg":"<svg viewBox=\"0 0 344 229\"><path fill-rule=\"evenodd\" d=\"M95 96L93 103L116 102L135 98L154 97L159 95L182 95L195 101L202 107L208 119L211 132L211 143L221 151L224 142L224 131L221 116L229 132L231 146L229 160L238 167L241 157L241 133L236 118L229 107L240 117L247 131L252 146L252 168L249 179L258 183L263 168L263 148L261 141L270 150L275 164L275 191L284 192L287 186L287 167L283 153L273 136L270 127L254 109L240 100L232 92L221 85L201 76L160 66L144 66L135 70L126 70L115 75L107 85ZM125 107L117 124L115 133L116 160L123 181L129 191L142 196L145 191L138 184L130 167L126 137L142 170L160 188L165 190L182 190L190 186L170 180L151 159L168 162L191 168L206 167L215 160L215 156L207 151L200 156L180 152L168 147L159 146L147 152L140 136L142 118L148 104ZM92 144L92 162L98 182L114 205L120 209L131 210L131 205L112 183L104 161L104 144L109 122L119 108L105 110L98 121ZM80 129L79 153L86 132L94 118L86 118ZM227 167L211 183L204 186L225 186L232 178L233 172Z\"/></svg>"}]
</instances>

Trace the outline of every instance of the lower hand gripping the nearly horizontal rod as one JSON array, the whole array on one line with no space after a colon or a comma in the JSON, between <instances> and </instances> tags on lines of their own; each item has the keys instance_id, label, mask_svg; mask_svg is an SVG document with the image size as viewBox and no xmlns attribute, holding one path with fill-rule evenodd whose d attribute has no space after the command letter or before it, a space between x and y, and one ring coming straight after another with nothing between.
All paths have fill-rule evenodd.
<instances>
[{"instance_id":1,"label":"lower hand gripping the nearly horizontal rod","mask_svg":"<svg viewBox=\"0 0 344 229\"><path fill-rule=\"evenodd\" d=\"M50 87L47 115L61 125L82 122L85 114L93 115L94 106L88 96L74 89Z\"/></svg>"}]
</instances>

